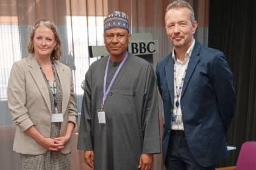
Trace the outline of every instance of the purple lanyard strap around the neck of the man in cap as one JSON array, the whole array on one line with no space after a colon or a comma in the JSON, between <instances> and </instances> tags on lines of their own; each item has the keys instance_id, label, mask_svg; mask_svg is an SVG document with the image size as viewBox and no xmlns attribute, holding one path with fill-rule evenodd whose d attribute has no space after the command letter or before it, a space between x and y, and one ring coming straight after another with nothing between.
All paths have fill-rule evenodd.
<instances>
[{"instance_id":1,"label":"purple lanyard strap around the neck of the man in cap","mask_svg":"<svg viewBox=\"0 0 256 170\"><path fill-rule=\"evenodd\" d=\"M109 60L110 60L110 56L108 57L108 61L107 61L107 66L106 66L106 69L105 69L105 75L104 75L104 83L103 83L103 98L102 98L102 104L101 106L104 106L104 103L105 103L105 100L107 98L107 95L119 73L119 71L121 70L121 68L123 67L124 65L124 62L126 62L126 59L127 59L127 56L128 56L128 53L126 52L126 56L124 57L123 61L120 63L120 65L118 66L118 69L116 70L115 74L113 75L112 77L112 80L110 81L110 84L108 85L107 87L107 91L106 91L106 83L107 83L107 70L108 70L108 65L109 65Z\"/></svg>"}]
</instances>

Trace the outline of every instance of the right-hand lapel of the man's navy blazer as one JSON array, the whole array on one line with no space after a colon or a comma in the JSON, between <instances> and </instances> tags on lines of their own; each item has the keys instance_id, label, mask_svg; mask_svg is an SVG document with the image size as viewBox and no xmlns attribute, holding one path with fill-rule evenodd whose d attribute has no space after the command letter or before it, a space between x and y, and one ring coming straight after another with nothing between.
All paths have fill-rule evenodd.
<instances>
[{"instance_id":1,"label":"right-hand lapel of the man's navy blazer","mask_svg":"<svg viewBox=\"0 0 256 170\"><path fill-rule=\"evenodd\" d=\"M185 90L187 89L188 82L190 81L191 75L193 74L197 63L199 62L199 59L200 59L199 55L200 55L200 45L198 44L198 42L196 42L196 44L194 44L194 49L193 49L193 52L191 53L190 61L188 63L187 73L185 75L181 97L184 94Z\"/></svg>"}]
</instances>

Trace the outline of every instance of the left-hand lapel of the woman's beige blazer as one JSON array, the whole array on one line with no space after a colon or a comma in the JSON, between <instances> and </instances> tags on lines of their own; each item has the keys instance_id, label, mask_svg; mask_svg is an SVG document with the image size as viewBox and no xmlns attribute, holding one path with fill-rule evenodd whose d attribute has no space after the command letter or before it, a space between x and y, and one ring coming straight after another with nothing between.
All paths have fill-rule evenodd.
<instances>
[{"instance_id":1,"label":"left-hand lapel of the woman's beige blazer","mask_svg":"<svg viewBox=\"0 0 256 170\"><path fill-rule=\"evenodd\" d=\"M51 113L51 101L50 101L50 96L49 96L49 90L46 87L45 81L43 74L41 73L40 70L40 65L37 63L37 60L34 58L34 56L29 56L27 58L30 70L29 72L31 73L32 77L34 78L35 83L37 84L38 89L41 92L41 95L44 98L44 101L49 109L49 112Z\"/></svg>"}]
</instances>

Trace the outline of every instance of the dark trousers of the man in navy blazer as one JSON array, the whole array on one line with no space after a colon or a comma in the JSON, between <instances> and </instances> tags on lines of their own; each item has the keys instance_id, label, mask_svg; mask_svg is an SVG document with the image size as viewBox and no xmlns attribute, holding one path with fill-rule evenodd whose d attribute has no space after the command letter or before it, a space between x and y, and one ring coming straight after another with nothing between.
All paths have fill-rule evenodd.
<instances>
[{"instance_id":1,"label":"dark trousers of the man in navy blazer","mask_svg":"<svg viewBox=\"0 0 256 170\"><path fill-rule=\"evenodd\" d=\"M185 134L171 131L165 160L166 170L215 170L215 166L203 167L194 160Z\"/></svg>"}]
</instances>

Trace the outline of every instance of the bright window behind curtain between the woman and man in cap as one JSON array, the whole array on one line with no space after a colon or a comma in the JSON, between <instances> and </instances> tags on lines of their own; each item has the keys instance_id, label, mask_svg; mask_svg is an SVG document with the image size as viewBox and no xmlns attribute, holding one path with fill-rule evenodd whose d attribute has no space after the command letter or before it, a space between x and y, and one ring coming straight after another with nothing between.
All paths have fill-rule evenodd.
<instances>
[{"instance_id":1,"label":"bright window behind curtain between the woman and man in cap","mask_svg":"<svg viewBox=\"0 0 256 170\"><path fill-rule=\"evenodd\" d=\"M72 22L71 22L72 20ZM104 17L103 16L67 16L68 51L74 55L74 84L77 95L84 94L81 83L89 66L98 58L90 58L88 46L104 45Z\"/></svg>"}]
</instances>

